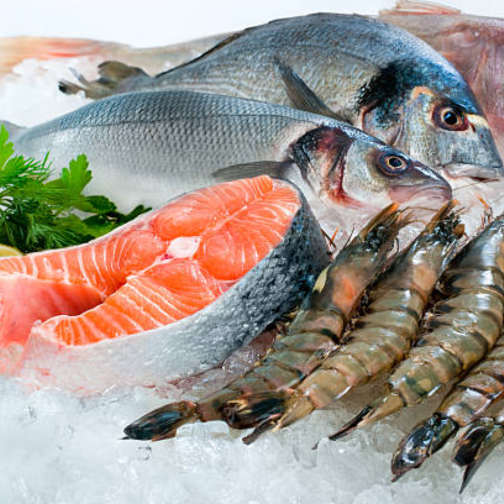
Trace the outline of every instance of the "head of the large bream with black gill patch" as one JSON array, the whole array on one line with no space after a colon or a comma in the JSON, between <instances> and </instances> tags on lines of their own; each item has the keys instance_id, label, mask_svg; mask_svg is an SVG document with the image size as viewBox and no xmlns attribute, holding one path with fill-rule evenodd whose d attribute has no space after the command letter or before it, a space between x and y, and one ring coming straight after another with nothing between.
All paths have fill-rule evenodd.
<instances>
[{"instance_id":1,"label":"head of the large bream with black gill patch","mask_svg":"<svg viewBox=\"0 0 504 504\"><path fill-rule=\"evenodd\" d=\"M364 131L446 176L504 177L488 122L455 69L392 66L361 92L360 107Z\"/></svg>"}]
</instances>

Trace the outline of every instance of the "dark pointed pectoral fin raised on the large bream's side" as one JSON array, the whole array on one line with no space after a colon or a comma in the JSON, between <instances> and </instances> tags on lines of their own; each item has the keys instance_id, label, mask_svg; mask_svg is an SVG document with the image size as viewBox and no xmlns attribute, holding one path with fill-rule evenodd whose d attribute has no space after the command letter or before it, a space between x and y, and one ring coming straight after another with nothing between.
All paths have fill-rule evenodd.
<instances>
[{"instance_id":1,"label":"dark pointed pectoral fin raised on the large bream's side","mask_svg":"<svg viewBox=\"0 0 504 504\"><path fill-rule=\"evenodd\" d=\"M275 59L275 64L284 81L289 100L295 108L314 114L327 115L338 121L348 122L344 117L331 110L291 67L279 59Z\"/></svg>"}]
</instances>

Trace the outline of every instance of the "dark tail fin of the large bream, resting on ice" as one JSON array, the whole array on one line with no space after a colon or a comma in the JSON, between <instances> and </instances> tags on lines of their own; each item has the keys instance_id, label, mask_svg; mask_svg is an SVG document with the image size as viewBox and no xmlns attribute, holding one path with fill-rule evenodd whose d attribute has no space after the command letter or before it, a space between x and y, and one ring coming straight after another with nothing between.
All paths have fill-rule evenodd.
<instances>
[{"instance_id":1,"label":"dark tail fin of the large bream, resting on ice","mask_svg":"<svg viewBox=\"0 0 504 504\"><path fill-rule=\"evenodd\" d=\"M130 67L120 61L104 61L98 65L98 79L88 81L76 70L72 70L74 77L79 84L61 80L58 82L58 88L65 94L76 94L84 91L87 98L100 99L111 96L118 92L119 88L125 90L129 82L134 79L146 77L150 78L141 68ZM119 91L120 92L120 91Z\"/></svg>"}]
</instances>

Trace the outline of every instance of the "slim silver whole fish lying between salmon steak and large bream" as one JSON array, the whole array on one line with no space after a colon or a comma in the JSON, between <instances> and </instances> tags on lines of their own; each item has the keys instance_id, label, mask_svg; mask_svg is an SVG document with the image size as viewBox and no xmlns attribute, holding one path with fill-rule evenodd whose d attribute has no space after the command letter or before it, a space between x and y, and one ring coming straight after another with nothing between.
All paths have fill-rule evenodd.
<instances>
[{"instance_id":1,"label":"slim silver whole fish lying between salmon steak and large bream","mask_svg":"<svg viewBox=\"0 0 504 504\"><path fill-rule=\"evenodd\" d=\"M7 127L18 154L41 159L50 151L61 167L85 153L91 192L128 208L261 173L296 183L333 230L352 209L366 219L391 202L435 206L451 196L436 172L346 123L210 93L122 94L33 128Z\"/></svg>"}]
</instances>

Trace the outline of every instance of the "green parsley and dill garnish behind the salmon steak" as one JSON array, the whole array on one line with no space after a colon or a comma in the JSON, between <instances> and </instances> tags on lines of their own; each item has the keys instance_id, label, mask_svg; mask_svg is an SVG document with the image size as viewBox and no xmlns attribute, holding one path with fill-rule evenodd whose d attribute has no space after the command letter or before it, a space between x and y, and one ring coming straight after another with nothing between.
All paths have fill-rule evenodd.
<instances>
[{"instance_id":1,"label":"green parsley and dill garnish behind the salmon steak","mask_svg":"<svg viewBox=\"0 0 504 504\"><path fill-rule=\"evenodd\" d=\"M150 210L127 215L105 196L84 196L91 181L86 156L70 161L59 178L49 154L43 161L14 156L9 133L0 128L0 243L24 253L85 243ZM75 212L78 211L79 215Z\"/></svg>"}]
</instances>

